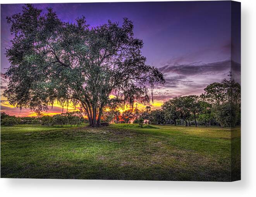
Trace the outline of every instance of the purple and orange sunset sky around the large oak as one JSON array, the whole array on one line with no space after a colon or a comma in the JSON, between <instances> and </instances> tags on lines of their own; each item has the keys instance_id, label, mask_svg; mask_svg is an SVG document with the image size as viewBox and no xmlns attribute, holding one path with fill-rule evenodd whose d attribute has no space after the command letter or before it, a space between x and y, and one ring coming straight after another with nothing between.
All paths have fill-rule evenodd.
<instances>
[{"instance_id":1,"label":"purple and orange sunset sky around the large oak","mask_svg":"<svg viewBox=\"0 0 256 197\"><path fill-rule=\"evenodd\" d=\"M147 64L163 72L166 83L154 90L153 109L174 96L201 94L212 82L227 78L230 71L230 2L130 2L130 3L52 3L34 4L52 7L65 22L84 15L90 26L110 19L122 23L128 17L134 24L134 36L143 39ZM22 11L22 4L1 4L1 111L10 115L34 115L29 109L10 106L2 92L8 81L2 74L9 67L5 48L12 35L6 16ZM240 63L240 58L234 59ZM240 81L239 81L240 82ZM143 108L144 106L140 106ZM70 107L72 110L72 107ZM65 110L64 110L65 111ZM47 113L61 113L57 104Z\"/></svg>"}]
</instances>

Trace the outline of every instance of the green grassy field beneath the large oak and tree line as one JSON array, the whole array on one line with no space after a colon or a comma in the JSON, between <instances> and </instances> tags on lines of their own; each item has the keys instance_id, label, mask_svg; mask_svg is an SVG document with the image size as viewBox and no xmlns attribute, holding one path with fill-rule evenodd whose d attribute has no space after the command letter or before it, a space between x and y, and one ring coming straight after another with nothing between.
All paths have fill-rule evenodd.
<instances>
[{"instance_id":1,"label":"green grassy field beneath the large oak and tree line","mask_svg":"<svg viewBox=\"0 0 256 197\"><path fill-rule=\"evenodd\" d=\"M1 178L230 181L230 139L239 149L240 136L238 127L1 127Z\"/></svg>"}]
</instances>

